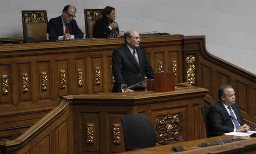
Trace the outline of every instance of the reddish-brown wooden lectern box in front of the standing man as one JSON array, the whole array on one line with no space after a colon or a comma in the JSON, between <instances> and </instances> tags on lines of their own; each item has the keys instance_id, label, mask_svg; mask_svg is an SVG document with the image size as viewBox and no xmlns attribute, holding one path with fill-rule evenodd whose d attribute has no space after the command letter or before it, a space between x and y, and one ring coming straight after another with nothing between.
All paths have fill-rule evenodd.
<instances>
[{"instance_id":1,"label":"reddish-brown wooden lectern box in front of the standing man","mask_svg":"<svg viewBox=\"0 0 256 154\"><path fill-rule=\"evenodd\" d=\"M175 90L174 72L155 73L155 79L148 80L147 82L147 90L150 91L153 89L154 89L154 92L174 91Z\"/></svg>"}]
</instances>

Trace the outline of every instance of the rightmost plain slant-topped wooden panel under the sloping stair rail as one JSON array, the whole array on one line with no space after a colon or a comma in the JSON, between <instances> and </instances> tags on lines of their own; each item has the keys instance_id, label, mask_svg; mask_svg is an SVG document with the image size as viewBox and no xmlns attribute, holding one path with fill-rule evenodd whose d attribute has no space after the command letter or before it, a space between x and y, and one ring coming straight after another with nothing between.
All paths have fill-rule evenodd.
<instances>
[{"instance_id":1,"label":"rightmost plain slant-topped wooden panel under the sloping stair rail","mask_svg":"<svg viewBox=\"0 0 256 154\"><path fill-rule=\"evenodd\" d=\"M58 151L60 154L68 153L68 122L64 121L57 128L58 133Z\"/></svg>"}]
</instances>

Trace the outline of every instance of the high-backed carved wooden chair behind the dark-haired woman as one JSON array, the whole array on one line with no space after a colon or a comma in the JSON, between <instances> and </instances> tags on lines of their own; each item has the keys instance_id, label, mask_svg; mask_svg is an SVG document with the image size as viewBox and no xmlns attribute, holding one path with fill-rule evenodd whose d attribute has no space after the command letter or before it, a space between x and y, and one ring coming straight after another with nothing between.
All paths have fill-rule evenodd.
<instances>
[{"instance_id":1,"label":"high-backed carved wooden chair behind the dark-haired woman","mask_svg":"<svg viewBox=\"0 0 256 154\"><path fill-rule=\"evenodd\" d=\"M103 9L84 9L86 38L93 38L93 29L96 20L102 18Z\"/></svg>"}]
</instances>

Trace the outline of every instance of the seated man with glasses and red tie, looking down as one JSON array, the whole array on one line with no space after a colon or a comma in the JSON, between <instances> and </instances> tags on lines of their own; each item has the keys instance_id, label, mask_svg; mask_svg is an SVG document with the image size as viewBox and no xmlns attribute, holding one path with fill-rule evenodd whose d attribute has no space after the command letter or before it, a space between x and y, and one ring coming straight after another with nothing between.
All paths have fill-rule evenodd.
<instances>
[{"instance_id":1,"label":"seated man with glasses and red tie, looking down","mask_svg":"<svg viewBox=\"0 0 256 154\"><path fill-rule=\"evenodd\" d=\"M83 38L84 33L76 24L76 8L72 5L67 5L62 11L62 15L50 19L47 25L47 33L49 39L67 40Z\"/></svg>"}]
</instances>

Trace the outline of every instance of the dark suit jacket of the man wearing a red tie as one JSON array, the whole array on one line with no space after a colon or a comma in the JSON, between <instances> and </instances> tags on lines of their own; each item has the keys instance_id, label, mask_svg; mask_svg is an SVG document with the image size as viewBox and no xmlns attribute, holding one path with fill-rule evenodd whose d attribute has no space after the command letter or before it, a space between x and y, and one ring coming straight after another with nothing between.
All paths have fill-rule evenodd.
<instances>
[{"instance_id":1,"label":"dark suit jacket of the man wearing a red tie","mask_svg":"<svg viewBox=\"0 0 256 154\"><path fill-rule=\"evenodd\" d=\"M74 35L76 38L84 38L84 33L79 29L76 24L76 20L72 20L68 24L70 35ZM58 39L58 36L63 36L63 24L61 16L52 18L47 24L47 33L49 34L49 39Z\"/></svg>"}]
</instances>

